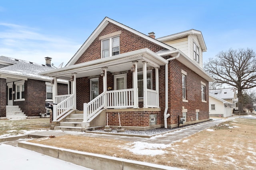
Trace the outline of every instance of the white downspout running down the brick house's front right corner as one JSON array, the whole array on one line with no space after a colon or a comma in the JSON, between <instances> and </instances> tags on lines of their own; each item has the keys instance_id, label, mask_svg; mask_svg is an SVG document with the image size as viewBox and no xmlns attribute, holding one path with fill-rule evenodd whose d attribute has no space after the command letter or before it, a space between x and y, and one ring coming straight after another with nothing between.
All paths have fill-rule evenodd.
<instances>
[{"instance_id":1,"label":"white downspout running down the brick house's front right corner","mask_svg":"<svg viewBox=\"0 0 256 170\"><path fill-rule=\"evenodd\" d=\"M180 53L178 53L175 57L167 59L168 63L171 60L177 59L180 57ZM167 128L167 118L170 114L167 114L168 111L168 63L165 64L165 109L164 109L164 128Z\"/></svg>"}]
</instances>

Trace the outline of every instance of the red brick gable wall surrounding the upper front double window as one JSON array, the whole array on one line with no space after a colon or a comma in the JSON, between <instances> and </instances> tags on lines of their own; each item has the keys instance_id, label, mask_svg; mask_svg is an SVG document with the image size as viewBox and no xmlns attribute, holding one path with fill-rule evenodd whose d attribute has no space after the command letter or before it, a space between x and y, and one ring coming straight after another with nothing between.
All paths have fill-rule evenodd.
<instances>
[{"instance_id":1,"label":"red brick gable wall surrounding the upper front double window","mask_svg":"<svg viewBox=\"0 0 256 170\"><path fill-rule=\"evenodd\" d=\"M108 23L108 25L102 30L100 35L93 41L93 43L86 49L82 56L76 61L75 64L84 63L87 61L92 61L101 58L101 40L99 37L116 31L122 31L120 34L120 54L127 53L130 51L135 51L138 49L148 48L151 51L157 52L163 47L156 45L126 29L122 29L113 23Z\"/></svg>"}]
</instances>

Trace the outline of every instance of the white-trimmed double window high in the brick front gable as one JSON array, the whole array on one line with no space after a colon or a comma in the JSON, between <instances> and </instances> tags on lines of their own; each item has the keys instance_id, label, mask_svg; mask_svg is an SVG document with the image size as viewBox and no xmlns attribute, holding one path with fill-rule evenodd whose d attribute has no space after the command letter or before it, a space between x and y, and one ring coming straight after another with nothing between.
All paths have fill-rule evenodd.
<instances>
[{"instance_id":1,"label":"white-trimmed double window high in the brick front gable","mask_svg":"<svg viewBox=\"0 0 256 170\"><path fill-rule=\"evenodd\" d=\"M118 55L120 53L120 38L110 37L101 41L102 58Z\"/></svg>"}]
</instances>

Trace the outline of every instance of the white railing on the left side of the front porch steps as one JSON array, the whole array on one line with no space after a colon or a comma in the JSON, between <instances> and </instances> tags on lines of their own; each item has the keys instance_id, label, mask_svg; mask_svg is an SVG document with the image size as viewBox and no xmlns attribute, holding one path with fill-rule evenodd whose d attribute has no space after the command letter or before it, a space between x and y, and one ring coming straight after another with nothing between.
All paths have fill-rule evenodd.
<instances>
[{"instance_id":1,"label":"white railing on the left side of the front porch steps","mask_svg":"<svg viewBox=\"0 0 256 170\"><path fill-rule=\"evenodd\" d=\"M57 105L53 105L53 121L57 121L62 115L66 114L71 109L74 109L74 95L56 96L56 99L61 101Z\"/></svg>"}]
</instances>

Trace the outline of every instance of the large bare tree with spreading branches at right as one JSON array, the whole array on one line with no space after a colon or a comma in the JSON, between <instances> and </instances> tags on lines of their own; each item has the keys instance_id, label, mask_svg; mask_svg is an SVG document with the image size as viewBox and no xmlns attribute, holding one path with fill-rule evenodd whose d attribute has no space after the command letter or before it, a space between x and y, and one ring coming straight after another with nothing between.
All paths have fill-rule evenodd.
<instances>
[{"instance_id":1,"label":"large bare tree with spreading branches at right","mask_svg":"<svg viewBox=\"0 0 256 170\"><path fill-rule=\"evenodd\" d=\"M252 49L229 49L204 64L216 85L228 84L238 90L238 109L243 112L242 90L256 87L256 56Z\"/></svg>"}]
</instances>

